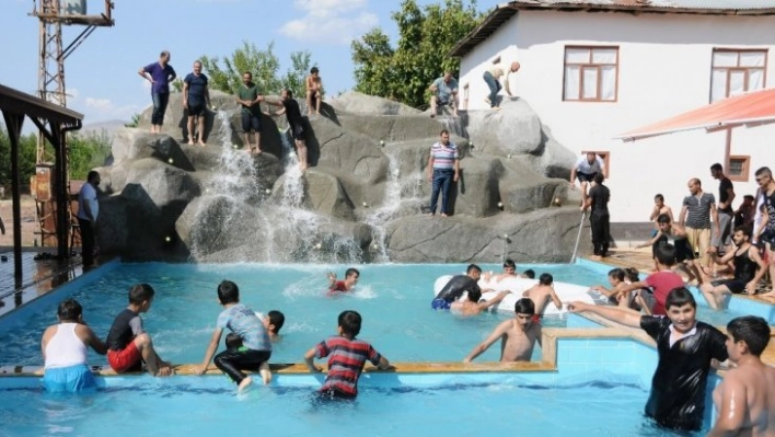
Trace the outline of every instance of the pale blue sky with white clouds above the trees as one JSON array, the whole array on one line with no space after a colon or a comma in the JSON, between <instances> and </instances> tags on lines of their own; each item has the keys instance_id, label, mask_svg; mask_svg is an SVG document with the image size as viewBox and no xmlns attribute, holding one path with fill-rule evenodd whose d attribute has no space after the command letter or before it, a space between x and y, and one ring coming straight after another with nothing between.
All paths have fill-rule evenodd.
<instances>
[{"instance_id":1,"label":"pale blue sky with white clouds above the trees","mask_svg":"<svg viewBox=\"0 0 775 437\"><path fill-rule=\"evenodd\" d=\"M441 0L418 0L419 4ZM489 10L502 0L478 0ZM0 0L3 59L0 83L28 93L37 89L38 22L28 16L33 0ZM310 50L332 93L354 85L350 41L379 26L395 38L390 18L400 0L114 0L114 27L100 27L66 62L68 107L85 115L84 123L129 119L150 104L148 82L137 70L172 53L178 76L190 71L199 56L228 56L243 41L264 48L275 42L284 62L289 54ZM103 10L89 0L88 13ZM68 45L83 26L65 26Z\"/></svg>"}]
</instances>

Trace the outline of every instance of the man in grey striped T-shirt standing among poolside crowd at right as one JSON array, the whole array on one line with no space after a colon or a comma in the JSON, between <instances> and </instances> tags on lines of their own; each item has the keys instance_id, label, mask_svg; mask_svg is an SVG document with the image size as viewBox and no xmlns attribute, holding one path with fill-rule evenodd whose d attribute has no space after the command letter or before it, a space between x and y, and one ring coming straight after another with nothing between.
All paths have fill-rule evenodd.
<instances>
[{"instance_id":1,"label":"man in grey striped T-shirt standing among poolside crowd at right","mask_svg":"<svg viewBox=\"0 0 775 437\"><path fill-rule=\"evenodd\" d=\"M703 184L696 177L689 181L689 193L690 195L683 198L679 225L685 225L689 244L695 253L699 253L699 264L707 267L710 265L710 218L718 223L716 198L713 194L703 192ZM719 235L719 228L716 228L716 237Z\"/></svg>"}]
</instances>

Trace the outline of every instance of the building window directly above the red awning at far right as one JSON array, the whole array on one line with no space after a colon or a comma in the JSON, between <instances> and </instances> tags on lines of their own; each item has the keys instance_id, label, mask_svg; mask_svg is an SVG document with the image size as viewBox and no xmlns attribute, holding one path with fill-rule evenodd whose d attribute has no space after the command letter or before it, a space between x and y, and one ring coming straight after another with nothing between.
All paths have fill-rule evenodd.
<instances>
[{"instance_id":1,"label":"building window directly above the red awning at far right","mask_svg":"<svg viewBox=\"0 0 775 437\"><path fill-rule=\"evenodd\" d=\"M710 102L764 89L767 50L713 50Z\"/></svg>"}]
</instances>

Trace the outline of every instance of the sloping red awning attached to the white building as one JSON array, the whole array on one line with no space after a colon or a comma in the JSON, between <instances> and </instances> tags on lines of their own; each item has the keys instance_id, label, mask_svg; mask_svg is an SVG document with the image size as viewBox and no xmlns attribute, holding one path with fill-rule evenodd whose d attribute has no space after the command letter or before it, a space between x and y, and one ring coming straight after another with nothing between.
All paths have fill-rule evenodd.
<instances>
[{"instance_id":1,"label":"sloping red awning attached to the white building","mask_svg":"<svg viewBox=\"0 0 775 437\"><path fill-rule=\"evenodd\" d=\"M775 89L741 94L714 102L661 122L621 134L614 138L635 141L686 130L716 131L739 126L759 126L775 123Z\"/></svg>"}]
</instances>

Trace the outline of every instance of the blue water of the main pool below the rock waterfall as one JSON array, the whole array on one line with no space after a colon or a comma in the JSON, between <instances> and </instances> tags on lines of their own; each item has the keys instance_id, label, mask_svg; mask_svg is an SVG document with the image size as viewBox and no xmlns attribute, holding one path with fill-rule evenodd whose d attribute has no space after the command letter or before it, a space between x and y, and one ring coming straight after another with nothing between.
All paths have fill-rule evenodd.
<instances>
[{"instance_id":1,"label":"blue water of the main pool below the rock waterfall","mask_svg":"<svg viewBox=\"0 0 775 437\"><path fill-rule=\"evenodd\" d=\"M363 315L360 337L394 361L459 361L507 313L487 313L463 319L430 309L432 285L437 277L460 273L463 265L365 265L358 291L328 298L325 273L342 278L347 266L325 265L192 265L142 263L120 264L91 284L73 290L84 308L84 320L97 335L107 334L113 318L127 304L127 290L146 281L157 290L151 310L143 314L147 331L162 358L173 363L199 363L222 307L216 286L234 280L242 302L256 311L280 310L286 314L282 340L275 345L273 363L300 363L303 354L336 332L336 318L343 310ZM537 274L548 272L555 280L581 285L601 284L604 269L568 265L521 265ZM498 271L497 265L483 265ZM93 272L91 275L100 275ZM67 294L33 302L31 309L0 319L0 365L42 365L41 334L56 323L57 303ZM702 303L702 302L701 302ZM712 312L701 307L701 318L715 324L739 315ZM545 318L544 326L564 326L564 318ZM90 364L105 364L91 353ZM540 357L536 347L534 358ZM477 360L498 360L499 347L490 347Z\"/></svg>"}]
</instances>

